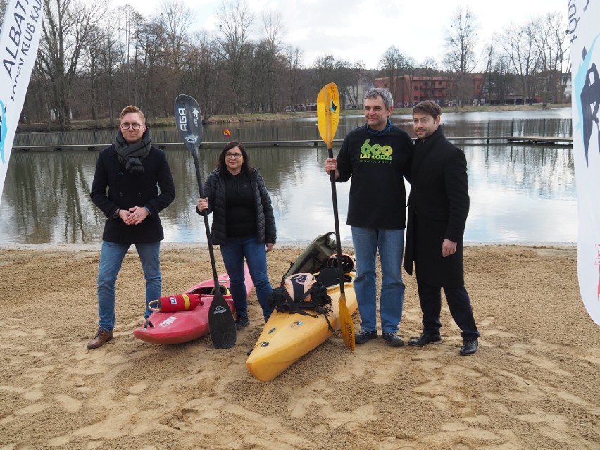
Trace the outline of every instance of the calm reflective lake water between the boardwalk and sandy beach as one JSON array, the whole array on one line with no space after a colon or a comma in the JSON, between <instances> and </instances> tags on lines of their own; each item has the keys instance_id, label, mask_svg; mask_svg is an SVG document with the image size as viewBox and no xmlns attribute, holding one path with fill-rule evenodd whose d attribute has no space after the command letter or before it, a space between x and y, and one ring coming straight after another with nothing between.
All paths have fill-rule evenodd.
<instances>
[{"instance_id":1,"label":"calm reflective lake water between the boardwalk and sandy beach","mask_svg":"<svg viewBox=\"0 0 600 450\"><path fill-rule=\"evenodd\" d=\"M577 199L571 149L539 146L465 146L469 166L470 242L575 242ZM219 149L201 150L203 179ZM279 242L305 241L334 229L331 185L323 147L250 148L273 199ZM94 151L15 153L0 205L0 242L100 242L104 216L89 199ZM206 242L194 211L198 186L189 151L169 150L177 196L161 213L167 242ZM343 239L349 183L337 185ZM368 213L368 205L365 205Z\"/></svg>"}]
</instances>

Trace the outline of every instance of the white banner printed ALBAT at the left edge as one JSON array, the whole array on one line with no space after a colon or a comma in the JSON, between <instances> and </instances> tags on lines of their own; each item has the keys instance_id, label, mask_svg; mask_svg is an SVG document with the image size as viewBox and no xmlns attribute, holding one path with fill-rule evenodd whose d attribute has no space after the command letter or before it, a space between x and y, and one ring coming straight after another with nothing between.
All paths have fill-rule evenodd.
<instances>
[{"instance_id":1,"label":"white banner printed ALBAT at the left edge","mask_svg":"<svg viewBox=\"0 0 600 450\"><path fill-rule=\"evenodd\" d=\"M0 201L43 17L42 0L8 0L0 32Z\"/></svg>"}]
</instances>

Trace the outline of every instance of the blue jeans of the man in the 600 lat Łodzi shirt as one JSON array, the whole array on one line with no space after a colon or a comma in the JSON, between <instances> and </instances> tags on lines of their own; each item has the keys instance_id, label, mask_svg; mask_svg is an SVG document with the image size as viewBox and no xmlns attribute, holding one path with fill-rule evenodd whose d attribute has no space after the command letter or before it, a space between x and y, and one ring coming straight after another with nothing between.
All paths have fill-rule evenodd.
<instances>
[{"instance_id":1,"label":"blue jeans of the man in the 600 lat \u0141odzi shirt","mask_svg":"<svg viewBox=\"0 0 600 450\"><path fill-rule=\"evenodd\" d=\"M381 330L398 331L404 305L402 254L404 230L352 227L352 242L356 252L354 291L361 313L361 330L377 330L377 273L375 258L379 249L381 261Z\"/></svg>"}]
</instances>

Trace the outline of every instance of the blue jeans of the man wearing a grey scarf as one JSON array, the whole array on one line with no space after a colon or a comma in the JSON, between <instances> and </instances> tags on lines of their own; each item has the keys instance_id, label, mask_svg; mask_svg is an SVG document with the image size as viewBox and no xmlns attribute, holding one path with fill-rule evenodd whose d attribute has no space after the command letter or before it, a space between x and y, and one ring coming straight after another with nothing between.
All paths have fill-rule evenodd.
<instances>
[{"instance_id":1,"label":"blue jeans of the man wearing a grey scarf","mask_svg":"<svg viewBox=\"0 0 600 450\"><path fill-rule=\"evenodd\" d=\"M146 279L146 312L144 318L147 319L152 312L148 308L148 304L161 298L163 287L159 258L161 242L134 245ZM115 327L115 282L119 270L121 270L121 265L123 265L123 258L125 258L130 246L131 244L102 241L98 268L98 314L100 316L99 325L106 331L112 331Z\"/></svg>"}]
</instances>

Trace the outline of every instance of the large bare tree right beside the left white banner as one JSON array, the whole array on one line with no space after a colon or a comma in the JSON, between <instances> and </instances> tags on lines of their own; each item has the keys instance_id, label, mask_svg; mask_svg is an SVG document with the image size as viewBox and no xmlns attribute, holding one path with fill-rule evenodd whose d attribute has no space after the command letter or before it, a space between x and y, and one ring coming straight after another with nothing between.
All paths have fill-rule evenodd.
<instances>
[{"instance_id":1,"label":"large bare tree right beside the left white banner","mask_svg":"<svg viewBox=\"0 0 600 450\"><path fill-rule=\"evenodd\" d=\"M63 128L70 121L71 91L81 68L82 49L105 11L105 0L44 1L46 17L37 64L47 77L50 104Z\"/></svg>"}]
</instances>

